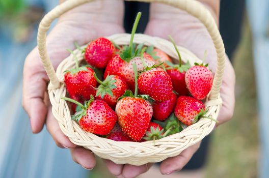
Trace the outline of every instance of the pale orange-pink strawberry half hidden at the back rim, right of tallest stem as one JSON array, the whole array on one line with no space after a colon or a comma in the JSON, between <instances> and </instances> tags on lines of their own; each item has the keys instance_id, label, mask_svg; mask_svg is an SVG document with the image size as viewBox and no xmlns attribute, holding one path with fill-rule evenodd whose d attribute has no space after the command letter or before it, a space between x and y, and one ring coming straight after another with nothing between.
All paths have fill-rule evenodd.
<instances>
[{"instance_id":1,"label":"pale orange-pink strawberry half hidden at the back rim, right of tallest stem","mask_svg":"<svg viewBox=\"0 0 269 178\"><path fill-rule=\"evenodd\" d=\"M154 58L156 64L164 63L164 66L168 67L165 62L168 61L172 63L171 58L164 51L154 48L153 46L149 46L146 52Z\"/></svg>"}]
</instances>

